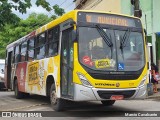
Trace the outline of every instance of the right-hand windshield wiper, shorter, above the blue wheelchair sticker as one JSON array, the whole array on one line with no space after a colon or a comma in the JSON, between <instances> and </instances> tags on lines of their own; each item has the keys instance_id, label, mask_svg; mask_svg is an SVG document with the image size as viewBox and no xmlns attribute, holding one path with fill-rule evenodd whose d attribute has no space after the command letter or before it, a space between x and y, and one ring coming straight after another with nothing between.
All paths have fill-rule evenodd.
<instances>
[{"instance_id":1,"label":"right-hand windshield wiper, shorter, above the blue wheelchair sticker","mask_svg":"<svg viewBox=\"0 0 160 120\"><path fill-rule=\"evenodd\" d=\"M130 36L130 29L128 29L128 30L124 33L123 38L120 37L120 38L121 38L121 41L120 41L120 49L123 49L123 48L126 46L126 44L127 44L127 42L128 42L128 39L129 39L129 36Z\"/></svg>"}]
</instances>

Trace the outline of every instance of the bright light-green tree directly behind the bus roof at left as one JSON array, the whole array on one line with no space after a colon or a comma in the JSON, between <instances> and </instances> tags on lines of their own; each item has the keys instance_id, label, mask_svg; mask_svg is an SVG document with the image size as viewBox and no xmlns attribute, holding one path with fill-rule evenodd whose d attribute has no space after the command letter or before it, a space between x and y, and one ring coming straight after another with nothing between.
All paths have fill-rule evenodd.
<instances>
[{"instance_id":1,"label":"bright light-green tree directly behind the bus roof at left","mask_svg":"<svg viewBox=\"0 0 160 120\"><path fill-rule=\"evenodd\" d=\"M20 20L17 25L6 24L3 31L0 31L0 58L5 57L5 49L9 43L25 36L51 20L47 15L32 13L26 20Z\"/></svg>"}]
</instances>

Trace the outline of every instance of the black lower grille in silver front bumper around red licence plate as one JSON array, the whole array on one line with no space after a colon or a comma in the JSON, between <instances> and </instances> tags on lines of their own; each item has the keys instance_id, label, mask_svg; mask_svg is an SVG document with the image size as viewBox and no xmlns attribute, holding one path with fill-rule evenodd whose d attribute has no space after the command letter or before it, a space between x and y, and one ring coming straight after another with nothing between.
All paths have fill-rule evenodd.
<instances>
[{"instance_id":1,"label":"black lower grille in silver front bumper around red licence plate","mask_svg":"<svg viewBox=\"0 0 160 120\"><path fill-rule=\"evenodd\" d=\"M124 98L130 98L134 95L135 90L125 90L125 91L97 91L98 95L102 99L110 99L112 95L123 95Z\"/></svg>"}]
</instances>

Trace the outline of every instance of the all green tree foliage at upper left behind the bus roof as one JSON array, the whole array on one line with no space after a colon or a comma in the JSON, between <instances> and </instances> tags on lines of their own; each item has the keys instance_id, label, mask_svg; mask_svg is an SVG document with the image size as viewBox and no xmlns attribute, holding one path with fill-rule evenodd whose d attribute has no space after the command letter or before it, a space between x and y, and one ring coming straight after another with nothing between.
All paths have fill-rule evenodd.
<instances>
[{"instance_id":1,"label":"all green tree foliage at upper left behind the bus roof","mask_svg":"<svg viewBox=\"0 0 160 120\"><path fill-rule=\"evenodd\" d=\"M5 58L6 46L65 13L58 5L51 6L46 0L36 0L37 6L47 11L54 10L55 14L48 18L44 14L32 13L26 20L21 20L13 9L24 14L32 6L31 0L0 0L0 58Z\"/></svg>"}]
</instances>

